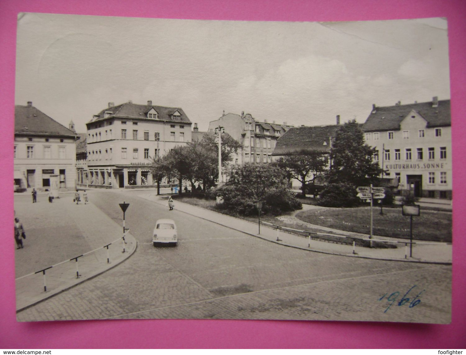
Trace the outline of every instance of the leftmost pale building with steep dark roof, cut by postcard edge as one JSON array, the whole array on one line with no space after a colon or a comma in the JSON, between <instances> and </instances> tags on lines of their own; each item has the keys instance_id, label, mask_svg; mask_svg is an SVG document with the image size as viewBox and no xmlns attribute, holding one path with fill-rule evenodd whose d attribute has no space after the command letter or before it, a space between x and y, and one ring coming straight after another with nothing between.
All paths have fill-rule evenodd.
<instances>
[{"instance_id":1,"label":"leftmost pale building with steep dark roof, cut by postcard edge","mask_svg":"<svg viewBox=\"0 0 466 355\"><path fill-rule=\"evenodd\" d=\"M74 190L75 140L75 132L39 111L31 101L27 106L15 106L15 189Z\"/></svg>"}]
</instances>

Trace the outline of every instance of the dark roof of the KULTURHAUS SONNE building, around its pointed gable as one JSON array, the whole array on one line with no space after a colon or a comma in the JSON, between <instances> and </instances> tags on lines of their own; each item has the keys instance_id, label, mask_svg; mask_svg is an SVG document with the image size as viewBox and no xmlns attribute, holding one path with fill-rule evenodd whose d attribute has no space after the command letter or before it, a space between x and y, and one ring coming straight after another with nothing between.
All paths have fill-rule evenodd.
<instances>
[{"instance_id":1,"label":"dark roof of the KULTURHAUS SONNE building, around its pointed gable","mask_svg":"<svg viewBox=\"0 0 466 355\"><path fill-rule=\"evenodd\" d=\"M409 105L375 107L375 113L371 112L363 124L363 131L399 130L401 121L404 120L411 110L416 111L427 121L427 127L451 125L450 100L439 100L438 107L432 107L432 101Z\"/></svg>"}]
</instances>

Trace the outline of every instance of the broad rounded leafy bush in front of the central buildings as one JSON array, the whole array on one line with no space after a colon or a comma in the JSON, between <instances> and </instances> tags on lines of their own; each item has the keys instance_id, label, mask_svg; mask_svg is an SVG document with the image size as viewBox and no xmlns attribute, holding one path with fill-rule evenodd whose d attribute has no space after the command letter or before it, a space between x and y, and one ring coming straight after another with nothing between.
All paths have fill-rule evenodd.
<instances>
[{"instance_id":1,"label":"broad rounded leafy bush in front of the central buildings","mask_svg":"<svg viewBox=\"0 0 466 355\"><path fill-rule=\"evenodd\" d=\"M257 214L256 203L262 202L264 213L280 214L302 208L288 192L285 172L271 164L245 164L234 167L230 179L217 189L223 207L239 214Z\"/></svg>"}]
</instances>

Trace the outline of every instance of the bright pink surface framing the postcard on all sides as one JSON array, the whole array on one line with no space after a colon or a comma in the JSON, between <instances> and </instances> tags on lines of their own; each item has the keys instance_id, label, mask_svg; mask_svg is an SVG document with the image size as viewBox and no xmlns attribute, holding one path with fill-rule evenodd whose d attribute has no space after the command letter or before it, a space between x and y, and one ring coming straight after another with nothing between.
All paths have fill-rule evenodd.
<instances>
[{"instance_id":1,"label":"bright pink surface framing the postcard on all sides","mask_svg":"<svg viewBox=\"0 0 466 355\"><path fill-rule=\"evenodd\" d=\"M355 21L446 17L450 47L453 185L452 323L125 320L19 323L13 221L14 77L19 12L178 19ZM464 0L0 0L0 348L466 348L466 1ZM354 295L355 302L365 302Z\"/></svg>"}]
</instances>

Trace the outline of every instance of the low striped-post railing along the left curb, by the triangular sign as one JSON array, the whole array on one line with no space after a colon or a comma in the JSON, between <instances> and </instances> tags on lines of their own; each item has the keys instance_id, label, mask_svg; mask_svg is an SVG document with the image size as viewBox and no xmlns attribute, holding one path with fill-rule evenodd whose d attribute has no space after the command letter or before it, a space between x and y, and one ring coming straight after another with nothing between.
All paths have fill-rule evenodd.
<instances>
[{"instance_id":1,"label":"low striped-post railing along the left curb, by the triangular sign","mask_svg":"<svg viewBox=\"0 0 466 355\"><path fill-rule=\"evenodd\" d=\"M125 250L125 247L126 247L126 244L127 242L125 241L125 236L126 234L129 233L129 229L126 230L126 232L123 234L122 237L112 241L111 243L107 244L107 245L104 245L103 247L99 247L99 248L96 248L94 250L91 250L87 253L84 253L82 255L77 255L69 260L65 260L65 261L61 261L59 263L56 263L54 265L51 265L51 266L48 266L47 268L43 268L39 271L35 271L35 272L32 272L30 274L27 274L27 275L23 275L23 276L20 276L20 277L17 277L15 279L15 281L19 281L21 279L24 279L26 277L29 277L29 276L32 276L32 275L36 275L36 274L42 274L43 275L43 281L44 281L44 284L43 284L43 292L47 292L47 278L46 278L46 271L49 270L49 269L52 269L52 268L57 268L57 267L62 267L63 271L64 272L69 272L69 278L67 278L68 280L69 279L79 279L82 275L80 274L80 271L79 271L79 261L83 260L86 256L89 256L89 255L94 255L94 256L97 256L96 254L99 252L99 251L102 251L105 253L105 256L106 257L102 257L102 255L100 255L100 260L98 257L96 257L97 261L92 261L92 262L96 262L98 265L103 265L103 264L110 264L110 246L113 246L114 248L118 248L119 250L121 250L121 253L127 253L127 251ZM122 247L118 247L117 245L117 242L118 241L122 241ZM113 250L112 250L113 251ZM118 251L119 252L119 251ZM81 259L82 258L82 259ZM69 267L69 263L72 263L72 262L75 262L75 266L76 268L70 268ZM68 270L65 270L65 268L68 268Z\"/></svg>"}]
</instances>

